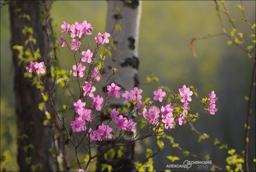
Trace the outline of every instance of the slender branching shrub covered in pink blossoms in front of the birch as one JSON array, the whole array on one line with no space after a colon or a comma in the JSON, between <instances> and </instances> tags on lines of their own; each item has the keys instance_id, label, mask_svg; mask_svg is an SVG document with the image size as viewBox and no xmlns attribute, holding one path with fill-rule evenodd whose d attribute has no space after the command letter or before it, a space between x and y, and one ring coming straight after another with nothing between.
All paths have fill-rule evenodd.
<instances>
[{"instance_id":1,"label":"slender branching shrub covered in pink blossoms in front of the birch","mask_svg":"<svg viewBox=\"0 0 256 172\"><path fill-rule=\"evenodd\" d=\"M61 100L57 106L53 101L51 102L58 119L65 128L69 141L71 141L75 148L77 163L81 171L87 171L93 159L106 153L113 147L133 144L138 140L150 136L162 136L175 132L183 128L191 120L208 112L214 115L217 111L215 101L218 98L214 91L212 91L208 97L203 97L201 113L198 115L190 114L189 102L192 101L193 92L185 85L178 90L178 94L171 94L170 90L157 89L153 92L153 100L151 101L142 100L142 89L134 87L132 90L121 92L121 87L115 83L106 85L106 92L103 97L95 95L95 83L102 79L101 74L105 59L105 55L100 54L100 61L97 61L96 55L102 44L109 43L110 34L105 32L104 34L98 33L95 36L95 50L90 50L90 47L88 50L81 50L83 38L92 35L92 30L91 24L87 23L86 20L81 23L75 22L72 25L64 22L61 25L61 32L67 33L68 36L61 36L60 42L58 43L61 44L61 47L67 46L74 58L72 72L70 72L67 78L63 78L65 80L64 92L67 88L66 83L72 77L71 75L76 78L79 91L79 97L73 102L75 116L69 122L71 131L68 130L65 117L61 117L64 114L58 111ZM70 41L67 41L67 37ZM31 74L34 72L38 76L38 74L45 73L46 67L43 62L31 61L25 68ZM115 72L118 72L118 70L114 70L113 68L113 75L109 76L109 78L114 77ZM37 78L44 86L42 79ZM106 79L109 80L109 78ZM55 83L57 86L58 82L56 81ZM45 92L50 96L47 89L45 89ZM124 106L122 108L109 108L111 100L120 98L124 100ZM65 113L70 110L72 108L66 107ZM130 119L129 116L135 113L137 117ZM102 116L105 116L109 120L99 124L100 117ZM140 124L140 130L138 133L135 133L135 129L139 128L138 124ZM129 139L124 139L124 136L128 136ZM111 141L112 144L108 147L103 147L102 152L93 153L92 146L103 146L102 141ZM83 147L89 155L84 168L82 168L81 161L78 157L78 147Z\"/></svg>"}]
</instances>

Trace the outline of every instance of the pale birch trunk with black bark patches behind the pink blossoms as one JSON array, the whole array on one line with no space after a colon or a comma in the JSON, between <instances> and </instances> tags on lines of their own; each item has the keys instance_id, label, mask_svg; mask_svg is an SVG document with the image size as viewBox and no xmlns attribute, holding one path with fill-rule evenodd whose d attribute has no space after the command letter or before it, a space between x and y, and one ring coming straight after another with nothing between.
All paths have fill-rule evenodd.
<instances>
[{"instance_id":1,"label":"pale birch trunk with black bark patches behind the pink blossoms","mask_svg":"<svg viewBox=\"0 0 256 172\"><path fill-rule=\"evenodd\" d=\"M116 8L120 9L120 13ZM115 83L125 90L131 91L138 86L139 80L137 70L139 67L138 59L138 38L139 38L139 22L141 17L142 1L132 0L128 3L124 0L109 0L106 32L111 33L111 39L114 40L115 49L111 50L111 57L106 56L104 61L104 72L102 75L103 91L106 88L106 79L113 74L112 68L115 67L118 71L110 78L107 85ZM113 30L113 26L120 24L122 31ZM109 104L110 108L119 108L124 106L124 99L113 99ZM122 114L125 116L125 114ZM101 121L103 122L104 119ZM124 138L125 139L125 138ZM107 147L109 143L103 143ZM98 147L98 152L104 151L104 147ZM117 152L119 147L114 147ZM107 158L101 155L97 161L97 171L101 171L101 164L110 164L113 171L135 171L135 144L123 147L122 156L117 158ZM117 154L116 154L117 155Z\"/></svg>"}]
</instances>

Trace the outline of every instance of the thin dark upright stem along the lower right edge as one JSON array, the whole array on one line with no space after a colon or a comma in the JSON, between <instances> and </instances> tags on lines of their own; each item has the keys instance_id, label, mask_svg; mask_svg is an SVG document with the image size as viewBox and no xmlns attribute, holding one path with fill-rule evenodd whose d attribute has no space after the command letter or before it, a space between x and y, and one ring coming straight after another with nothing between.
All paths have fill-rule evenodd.
<instances>
[{"instance_id":1,"label":"thin dark upright stem along the lower right edge","mask_svg":"<svg viewBox=\"0 0 256 172\"><path fill-rule=\"evenodd\" d=\"M253 74L251 78L251 83L250 83L250 94L248 98L248 105L247 105L247 117L246 117L246 128L245 128L245 171L249 171L248 167L248 136L249 136L249 116L250 116L250 102L252 98L252 91L253 91L253 81L255 78L255 64L253 64Z\"/></svg>"}]
</instances>

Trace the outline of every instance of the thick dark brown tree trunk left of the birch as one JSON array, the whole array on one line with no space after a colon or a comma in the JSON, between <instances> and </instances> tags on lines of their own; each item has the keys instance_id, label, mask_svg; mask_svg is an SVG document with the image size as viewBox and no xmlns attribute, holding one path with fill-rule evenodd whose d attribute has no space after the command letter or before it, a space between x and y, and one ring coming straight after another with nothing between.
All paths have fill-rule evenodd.
<instances>
[{"instance_id":1,"label":"thick dark brown tree trunk left of the birch","mask_svg":"<svg viewBox=\"0 0 256 172\"><path fill-rule=\"evenodd\" d=\"M51 19L50 1L11 1L9 3L9 13L11 21L11 47L14 45L24 45L27 39L22 34L24 26L33 28L33 38L36 39L34 50L40 49L41 59L47 65L47 80L45 86L50 89L50 46L51 46ZM29 15L31 21L20 16ZM29 44L24 50L31 49ZM33 50L31 49L31 52ZM45 111L40 111L39 103L42 103L42 95L39 89L32 86L32 80L24 77L24 63L17 57L18 51L13 50L14 64L14 94L17 114L18 128L18 157L20 171L31 171L31 166L38 168L36 171L59 171L56 155L50 153L49 149L55 150L53 135L53 118L55 116L51 103L46 102L46 109L52 118L48 120L47 125L43 121L47 120ZM53 98L53 94L51 94ZM53 98L54 99L54 98ZM27 136L27 137L25 137ZM32 144L34 148L24 147ZM31 158L30 163L26 158ZM42 169L40 165L42 164ZM39 165L39 166L38 166Z\"/></svg>"}]
</instances>

